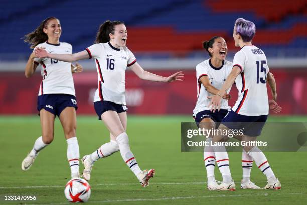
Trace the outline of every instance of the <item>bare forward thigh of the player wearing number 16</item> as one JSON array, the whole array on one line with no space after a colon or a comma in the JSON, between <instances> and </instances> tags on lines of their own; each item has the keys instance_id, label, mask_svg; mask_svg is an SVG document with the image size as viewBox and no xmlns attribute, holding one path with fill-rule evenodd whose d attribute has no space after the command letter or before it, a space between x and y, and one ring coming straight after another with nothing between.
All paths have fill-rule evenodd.
<instances>
[{"instance_id":1,"label":"bare forward thigh of the player wearing number 16","mask_svg":"<svg viewBox=\"0 0 307 205\"><path fill-rule=\"evenodd\" d=\"M101 119L113 136L125 132L125 129L120 121L119 115L116 111L106 111L101 114Z\"/></svg>"}]
</instances>

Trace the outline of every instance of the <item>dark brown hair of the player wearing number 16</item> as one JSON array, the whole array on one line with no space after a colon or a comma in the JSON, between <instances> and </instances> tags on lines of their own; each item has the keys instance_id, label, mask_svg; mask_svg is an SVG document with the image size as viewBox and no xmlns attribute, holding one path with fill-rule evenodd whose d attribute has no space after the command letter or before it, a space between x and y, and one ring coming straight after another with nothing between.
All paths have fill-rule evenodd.
<instances>
[{"instance_id":1,"label":"dark brown hair of the player wearing number 16","mask_svg":"<svg viewBox=\"0 0 307 205\"><path fill-rule=\"evenodd\" d=\"M110 34L114 34L115 25L125 24L121 21L107 20L99 26L95 43L107 43L110 41Z\"/></svg>"}]
</instances>

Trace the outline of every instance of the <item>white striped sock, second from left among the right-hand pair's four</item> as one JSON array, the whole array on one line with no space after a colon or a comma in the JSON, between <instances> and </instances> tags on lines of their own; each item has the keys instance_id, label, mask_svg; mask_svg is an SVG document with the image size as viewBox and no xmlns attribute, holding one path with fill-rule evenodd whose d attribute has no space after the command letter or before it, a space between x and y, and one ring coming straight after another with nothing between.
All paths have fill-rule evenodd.
<instances>
[{"instance_id":1,"label":"white striped sock, second from left among the right-hand pair's four","mask_svg":"<svg viewBox=\"0 0 307 205\"><path fill-rule=\"evenodd\" d=\"M229 169L229 157L224 145L213 146L215 153L216 164L219 167L219 170L223 177L224 183L231 183L232 177Z\"/></svg>"}]
</instances>

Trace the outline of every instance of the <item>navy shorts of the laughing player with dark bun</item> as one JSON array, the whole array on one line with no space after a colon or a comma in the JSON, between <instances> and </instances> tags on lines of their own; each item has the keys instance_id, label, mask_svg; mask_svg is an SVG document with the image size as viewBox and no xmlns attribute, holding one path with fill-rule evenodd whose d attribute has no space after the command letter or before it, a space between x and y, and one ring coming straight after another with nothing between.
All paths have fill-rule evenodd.
<instances>
[{"instance_id":1,"label":"navy shorts of the laughing player with dark bun","mask_svg":"<svg viewBox=\"0 0 307 205\"><path fill-rule=\"evenodd\" d=\"M197 127L199 127L199 123L204 118L211 118L215 122L216 128L220 125L225 115L228 113L228 110L221 109L220 111L215 111L214 113L210 110L204 110L201 112L198 112L194 118Z\"/></svg>"}]
</instances>

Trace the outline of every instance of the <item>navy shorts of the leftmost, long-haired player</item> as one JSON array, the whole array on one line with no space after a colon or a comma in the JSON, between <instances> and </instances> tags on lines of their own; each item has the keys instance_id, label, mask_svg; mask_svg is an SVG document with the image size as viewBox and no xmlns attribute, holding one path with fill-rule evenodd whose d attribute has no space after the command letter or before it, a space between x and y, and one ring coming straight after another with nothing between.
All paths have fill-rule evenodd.
<instances>
[{"instance_id":1,"label":"navy shorts of the leftmost, long-haired player","mask_svg":"<svg viewBox=\"0 0 307 205\"><path fill-rule=\"evenodd\" d=\"M66 107L78 109L77 100L74 95L70 94L43 94L37 98L37 110L41 109L60 116Z\"/></svg>"}]
</instances>

